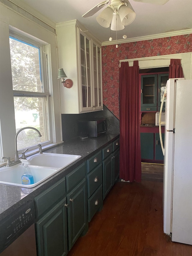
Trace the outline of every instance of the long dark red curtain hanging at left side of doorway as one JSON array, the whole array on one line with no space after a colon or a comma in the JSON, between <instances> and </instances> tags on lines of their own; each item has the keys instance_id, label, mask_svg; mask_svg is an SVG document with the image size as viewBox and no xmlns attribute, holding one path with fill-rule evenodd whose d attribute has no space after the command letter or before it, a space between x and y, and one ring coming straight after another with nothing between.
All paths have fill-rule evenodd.
<instances>
[{"instance_id":1,"label":"long dark red curtain hanging at left side of doorway","mask_svg":"<svg viewBox=\"0 0 192 256\"><path fill-rule=\"evenodd\" d=\"M120 179L141 181L139 63L119 68Z\"/></svg>"}]
</instances>

